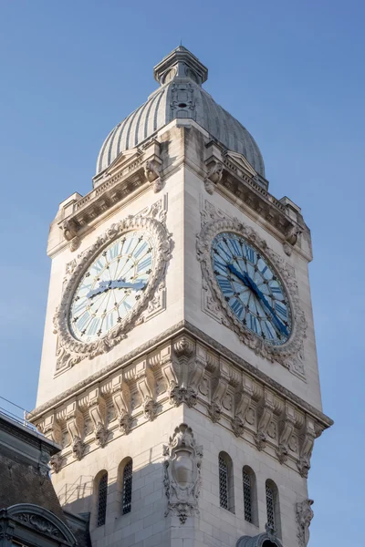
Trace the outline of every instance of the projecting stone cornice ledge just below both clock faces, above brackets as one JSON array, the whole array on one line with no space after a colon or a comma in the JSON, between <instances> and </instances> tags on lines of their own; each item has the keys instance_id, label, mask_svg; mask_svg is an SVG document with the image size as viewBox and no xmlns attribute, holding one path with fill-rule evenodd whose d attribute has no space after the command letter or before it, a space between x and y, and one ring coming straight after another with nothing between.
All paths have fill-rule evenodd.
<instances>
[{"instance_id":1,"label":"projecting stone cornice ledge just below both clock faces, above brackets","mask_svg":"<svg viewBox=\"0 0 365 547\"><path fill-rule=\"evenodd\" d=\"M67 401L71 398L78 397L78 395L82 393L86 388L92 388L93 386L95 386L95 384L99 384L104 379L109 377L110 373L118 372L121 368L128 366L132 361L140 359L141 356L143 356L144 354L150 354L153 349L160 346L170 338L183 334L193 335L194 337L202 341L203 344L213 348L226 359L232 361L233 364L239 366L243 371L245 371L246 374L252 377L252 379L262 383L266 387L269 387L270 389L275 391L278 396L285 397L290 403L296 405L298 408L308 413L312 418L316 418L316 420L318 420L320 426L323 429L329 428L331 425L333 425L333 420L320 412L318 408L314 408L312 405L309 405L308 402L292 393L286 387L281 386L279 383L276 382L276 380L268 377L264 372L258 370L255 366L247 363L242 357L236 356L235 353L228 350L226 347L216 342L211 336L206 335L199 328L187 321L181 321L175 325L172 325L171 328L162 332L161 335L158 335L151 341L137 347L136 349L121 357L114 363L111 363L109 366L101 368L95 374L78 382L78 384L75 384L75 386L70 387L68 390L57 395L57 397L53 397L52 399L47 401L47 403L29 412L26 416L26 419L28 419L32 423L36 423L51 409L66 404Z\"/></svg>"}]
</instances>

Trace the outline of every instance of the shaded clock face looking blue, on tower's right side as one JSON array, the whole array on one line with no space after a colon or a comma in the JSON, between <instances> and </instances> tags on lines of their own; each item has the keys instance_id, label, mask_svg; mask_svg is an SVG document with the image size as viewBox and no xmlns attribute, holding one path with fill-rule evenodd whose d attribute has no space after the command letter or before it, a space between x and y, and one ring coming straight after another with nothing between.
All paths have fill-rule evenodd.
<instances>
[{"instance_id":1,"label":"shaded clock face looking blue, on tower's right side","mask_svg":"<svg viewBox=\"0 0 365 547\"><path fill-rule=\"evenodd\" d=\"M278 275L262 253L233 232L212 243L217 284L235 317L272 345L287 342L292 329L290 304Z\"/></svg>"}]
</instances>

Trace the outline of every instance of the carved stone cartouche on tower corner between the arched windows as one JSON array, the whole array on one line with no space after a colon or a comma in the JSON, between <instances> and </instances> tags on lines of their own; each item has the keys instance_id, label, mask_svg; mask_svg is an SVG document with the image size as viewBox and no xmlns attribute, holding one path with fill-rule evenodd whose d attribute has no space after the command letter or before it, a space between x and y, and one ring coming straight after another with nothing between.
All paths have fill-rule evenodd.
<instances>
[{"instance_id":1,"label":"carved stone cartouche on tower corner between the arched windows","mask_svg":"<svg viewBox=\"0 0 365 547\"><path fill-rule=\"evenodd\" d=\"M196 445L192 428L181 424L175 428L169 444L163 447L163 455L163 484L167 497L165 516L177 516L184 524L188 517L199 514L203 447Z\"/></svg>"}]
</instances>

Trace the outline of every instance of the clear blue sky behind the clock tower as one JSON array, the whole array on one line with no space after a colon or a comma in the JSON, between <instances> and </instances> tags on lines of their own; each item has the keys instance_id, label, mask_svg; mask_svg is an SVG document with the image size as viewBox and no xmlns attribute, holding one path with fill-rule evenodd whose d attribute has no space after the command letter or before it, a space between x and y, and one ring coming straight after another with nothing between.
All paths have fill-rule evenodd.
<instances>
[{"instance_id":1,"label":"clear blue sky behind the clock tower","mask_svg":"<svg viewBox=\"0 0 365 547\"><path fill-rule=\"evenodd\" d=\"M58 202L90 190L103 139L182 38L209 67L205 88L255 136L272 193L312 230L323 403L336 424L312 459L310 547L363 542L364 20L360 0L0 0L0 395L35 404Z\"/></svg>"}]
</instances>

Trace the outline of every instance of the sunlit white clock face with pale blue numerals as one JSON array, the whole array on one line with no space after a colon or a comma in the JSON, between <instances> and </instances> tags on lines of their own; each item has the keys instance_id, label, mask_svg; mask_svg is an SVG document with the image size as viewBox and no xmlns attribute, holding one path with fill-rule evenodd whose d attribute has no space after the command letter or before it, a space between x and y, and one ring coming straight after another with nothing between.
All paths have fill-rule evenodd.
<instances>
[{"instance_id":1,"label":"sunlit white clock face with pale blue numerals","mask_svg":"<svg viewBox=\"0 0 365 547\"><path fill-rule=\"evenodd\" d=\"M81 277L69 308L71 334L82 342L107 335L130 313L155 262L148 232L127 232L110 243Z\"/></svg>"}]
</instances>

